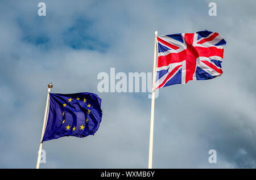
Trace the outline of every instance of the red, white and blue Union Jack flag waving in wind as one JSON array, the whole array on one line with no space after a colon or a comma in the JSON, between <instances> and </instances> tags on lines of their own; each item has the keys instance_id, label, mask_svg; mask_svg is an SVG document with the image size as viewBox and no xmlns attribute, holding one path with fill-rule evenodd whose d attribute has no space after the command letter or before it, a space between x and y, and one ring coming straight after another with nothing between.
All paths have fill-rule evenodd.
<instances>
[{"instance_id":1,"label":"red, white and blue Union Jack flag waving in wind","mask_svg":"<svg viewBox=\"0 0 256 180\"><path fill-rule=\"evenodd\" d=\"M217 32L199 31L158 36L155 88L207 80L222 74L226 41Z\"/></svg>"}]
</instances>

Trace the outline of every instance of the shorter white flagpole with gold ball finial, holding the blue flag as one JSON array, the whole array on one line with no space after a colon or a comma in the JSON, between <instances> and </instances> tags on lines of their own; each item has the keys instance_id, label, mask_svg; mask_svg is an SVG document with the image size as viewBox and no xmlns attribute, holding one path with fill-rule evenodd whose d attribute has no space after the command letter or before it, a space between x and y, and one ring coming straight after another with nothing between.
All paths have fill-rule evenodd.
<instances>
[{"instance_id":1,"label":"shorter white flagpole with gold ball finial, holding the blue flag","mask_svg":"<svg viewBox=\"0 0 256 180\"><path fill-rule=\"evenodd\" d=\"M42 129L42 135L39 145L39 151L38 151L38 162L36 162L36 169L39 169L40 166L40 160L41 160L41 153L43 148L43 136L44 136L44 130L46 129L46 121L47 121L47 114L48 114L48 106L49 106L49 93L51 92L51 88L53 87L52 83L48 84L48 92L47 92L47 100L46 100L46 111L44 112L44 122L43 122L43 129Z\"/></svg>"}]
</instances>

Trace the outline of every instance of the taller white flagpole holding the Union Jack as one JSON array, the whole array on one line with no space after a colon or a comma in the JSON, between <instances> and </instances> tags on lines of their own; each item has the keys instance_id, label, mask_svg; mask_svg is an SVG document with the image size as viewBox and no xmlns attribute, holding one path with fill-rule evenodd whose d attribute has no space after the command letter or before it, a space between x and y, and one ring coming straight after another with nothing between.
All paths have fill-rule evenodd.
<instances>
[{"instance_id":1,"label":"taller white flagpole holding the Union Jack","mask_svg":"<svg viewBox=\"0 0 256 180\"><path fill-rule=\"evenodd\" d=\"M152 158L153 158L153 134L154 134L154 110L155 110L155 78L156 78L156 55L157 55L157 44L156 37L158 31L155 31L155 46L154 46L154 64L153 64L153 78L152 78L152 96L151 96L151 118L150 118L150 143L148 152L148 169L152 169Z\"/></svg>"}]
</instances>

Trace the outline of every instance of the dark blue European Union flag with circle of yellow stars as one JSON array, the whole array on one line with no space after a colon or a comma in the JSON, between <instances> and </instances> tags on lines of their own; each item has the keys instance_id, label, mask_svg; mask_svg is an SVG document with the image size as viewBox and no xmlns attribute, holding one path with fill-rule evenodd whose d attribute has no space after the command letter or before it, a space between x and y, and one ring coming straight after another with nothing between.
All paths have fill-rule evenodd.
<instances>
[{"instance_id":1,"label":"dark blue European Union flag with circle of yellow stars","mask_svg":"<svg viewBox=\"0 0 256 180\"><path fill-rule=\"evenodd\" d=\"M42 142L63 136L93 135L101 117L101 98L94 93L49 93L49 114Z\"/></svg>"}]
</instances>

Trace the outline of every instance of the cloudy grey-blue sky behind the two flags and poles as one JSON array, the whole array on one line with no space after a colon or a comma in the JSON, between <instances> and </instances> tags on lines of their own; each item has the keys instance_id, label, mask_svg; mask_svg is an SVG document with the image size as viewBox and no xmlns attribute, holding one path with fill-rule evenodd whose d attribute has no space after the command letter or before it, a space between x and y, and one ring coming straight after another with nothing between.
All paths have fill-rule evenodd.
<instances>
[{"instance_id":1,"label":"cloudy grey-blue sky behind the two flags and poles","mask_svg":"<svg viewBox=\"0 0 256 180\"><path fill-rule=\"evenodd\" d=\"M100 93L97 75L151 72L155 30L204 29L227 41L224 74L160 89L153 168L256 168L255 1L45 0L38 16L39 2L0 2L0 168L35 168L49 82L97 93L103 117L94 136L45 142L41 168L147 168L148 93Z\"/></svg>"}]
</instances>

